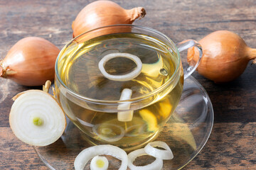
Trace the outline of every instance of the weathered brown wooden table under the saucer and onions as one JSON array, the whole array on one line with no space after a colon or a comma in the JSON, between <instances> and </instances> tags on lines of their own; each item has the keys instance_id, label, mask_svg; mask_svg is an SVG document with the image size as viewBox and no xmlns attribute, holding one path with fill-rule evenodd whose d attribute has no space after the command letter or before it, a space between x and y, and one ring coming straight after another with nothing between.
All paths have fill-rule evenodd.
<instances>
[{"instance_id":1,"label":"weathered brown wooden table under the saucer and onions","mask_svg":"<svg viewBox=\"0 0 256 170\"><path fill-rule=\"evenodd\" d=\"M46 38L60 49L72 38L71 23L91 1L0 0L0 55L27 36ZM254 0L120 0L124 8L144 6L146 17L135 23L168 35L174 42L200 40L215 30L238 33L256 47ZM250 62L251 63L251 62ZM248 64L235 81L214 84L195 77L213 103L215 120L206 146L184 169L256 169L256 67ZM48 169L33 150L9 128L11 98L30 89L0 79L0 169Z\"/></svg>"}]
</instances>

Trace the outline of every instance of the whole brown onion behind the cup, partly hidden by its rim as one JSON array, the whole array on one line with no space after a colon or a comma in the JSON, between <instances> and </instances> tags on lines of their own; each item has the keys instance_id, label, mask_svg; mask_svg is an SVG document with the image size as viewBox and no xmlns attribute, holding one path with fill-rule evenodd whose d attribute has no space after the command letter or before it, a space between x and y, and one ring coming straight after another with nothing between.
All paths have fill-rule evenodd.
<instances>
[{"instance_id":1,"label":"whole brown onion behind the cup, partly hidden by its rim","mask_svg":"<svg viewBox=\"0 0 256 170\"><path fill-rule=\"evenodd\" d=\"M102 26L132 24L145 15L142 7L127 10L112 1L94 1L82 8L73 21L73 37Z\"/></svg>"}]
</instances>

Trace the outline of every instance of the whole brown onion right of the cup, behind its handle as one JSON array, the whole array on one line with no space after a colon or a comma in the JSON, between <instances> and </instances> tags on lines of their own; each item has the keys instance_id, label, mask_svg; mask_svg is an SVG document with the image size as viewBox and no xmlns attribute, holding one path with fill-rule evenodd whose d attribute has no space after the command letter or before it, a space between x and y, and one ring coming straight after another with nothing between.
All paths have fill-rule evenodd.
<instances>
[{"instance_id":1,"label":"whole brown onion right of the cup, behind its handle","mask_svg":"<svg viewBox=\"0 0 256 170\"><path fill-rule=\"evenodd\" d=\"M203 48L203 57L197 71L215 83L225 83L238 78L256 50L247 47L239 35L228 30L218 30L198 41ZM198 55L197 50L188 50L188 62Z\"/></svg>"}]
</instances>

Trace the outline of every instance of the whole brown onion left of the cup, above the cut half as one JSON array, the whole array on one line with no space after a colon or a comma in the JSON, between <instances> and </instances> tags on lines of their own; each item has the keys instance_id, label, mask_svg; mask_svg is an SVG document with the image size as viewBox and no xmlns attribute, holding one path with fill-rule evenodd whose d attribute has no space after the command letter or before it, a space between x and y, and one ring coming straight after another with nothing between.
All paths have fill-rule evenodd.
<instances>
[{"instance_id":1,"label":"whole brown onion left of the cup, above the cut half","mask_svg":"<svg viewBox=\"0 0 256 170\"><path fill-rule=\"evenodd\" d=\"M1 77L23 86L41 86L47 80L53 81L59 52L58 47L43 38L23 38L1 61Z\"/></svg>"}]
</instances>

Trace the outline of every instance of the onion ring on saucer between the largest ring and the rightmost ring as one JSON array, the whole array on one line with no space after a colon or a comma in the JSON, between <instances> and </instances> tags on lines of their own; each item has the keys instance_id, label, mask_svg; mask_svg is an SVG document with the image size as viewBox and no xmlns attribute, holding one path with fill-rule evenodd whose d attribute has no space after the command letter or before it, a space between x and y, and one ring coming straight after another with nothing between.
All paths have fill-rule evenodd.
<instances>
[{"instance_id":1,"label":"onion ring on saucer between the largest ring and the rightmost ring","mask_svg":"<svg viewBox=\"0 0 256 170\"><path fill-rule=\"evenodd\" d=\"M163 160L156 157L156 160L151 164L147 164L146 166L135 166L133 164L134 160L137 157L146 155L144 148L134 150L128 154L128 166L131 170L160 170L163 167Z\"/></svg>"}]
</instances>

